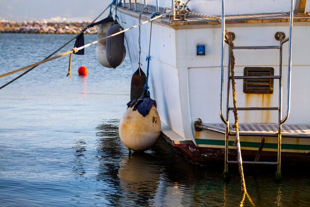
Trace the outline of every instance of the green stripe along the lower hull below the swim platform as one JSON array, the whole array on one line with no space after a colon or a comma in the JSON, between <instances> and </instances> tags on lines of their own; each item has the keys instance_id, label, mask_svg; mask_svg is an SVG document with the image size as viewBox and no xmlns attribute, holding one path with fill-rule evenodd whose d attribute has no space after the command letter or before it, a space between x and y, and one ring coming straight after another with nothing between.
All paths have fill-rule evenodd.
<instances>
[{"instance_id":1,"label":"green stripe along the lower hull below the swim platform","mask_svg":"<svg viewBox=\"0 0 310 207\"><path fill-rule=\"evenodd\" d=\"M225 146L225 140L204 140L204 139L196 139L196 143L198 145L217 145L217 146ZM229 146L233 146L234 141L228 141ZM258 142L240 142L241 147L248 148L259 148L260 143ZM268 149L278 149L277 143L264 143L264 148ZM282 144L283 150L310 150L310 145L294 145L294 144Z\"/></svg>"}]
</instances>

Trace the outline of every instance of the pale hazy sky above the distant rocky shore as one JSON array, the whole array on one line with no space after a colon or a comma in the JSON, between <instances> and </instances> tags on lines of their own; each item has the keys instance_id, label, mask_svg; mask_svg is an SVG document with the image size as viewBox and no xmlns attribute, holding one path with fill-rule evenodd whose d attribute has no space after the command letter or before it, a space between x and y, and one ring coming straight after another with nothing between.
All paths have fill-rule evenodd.
<instances>
[{"instance_id":1,"label":"pale hazy sky above the distant rocky shore","mask_svg":"<svg viewBox=\"0 0 310 207\"><path fill-rule=\"evenodd\" d=\"M61 17L72 21L92 21L111 1L0 0L0 20L50 20Z\"/></svg>"}]
</instances>

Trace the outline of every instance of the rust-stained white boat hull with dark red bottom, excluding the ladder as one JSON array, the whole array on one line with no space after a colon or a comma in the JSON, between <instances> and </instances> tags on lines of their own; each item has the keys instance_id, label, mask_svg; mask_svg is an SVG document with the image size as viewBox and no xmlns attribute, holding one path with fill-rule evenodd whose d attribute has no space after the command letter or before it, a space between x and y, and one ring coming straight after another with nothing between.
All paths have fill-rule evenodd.
<instances>
[{"instance_id":1,"label":"rust-stained white boat hull with dark red bottom, excluding the ladder","mask_svg":"<svg viewBox=\"0 0 310 207\"><path fill-rule=\"evenodd\" d=\"M120 9L120 24L124 29L139 23L139 12ZM151 14L150 14L151 15ZM142 15L142 20L150 18ZM258 15L259 16L259 15ZM260 18L260 17L259 17ZM232 20L231 20L232 21ZM304 21L304 20L303 20ZM227 30L234 32L235 46L277 46L279 41L274 34L283 31L288 34L288 22L284 19L257 20L242 23L240 20L226 24ZM216 23L216 22L215 22ZM174 147L180 149L194 162L224 160L225 135L210 130L198 132L194 121L201 118L205 123L223 124L219 116L220 86L220 37L221 28L214 22L168 22L158 19L153 22L150 63L150 91L156 100L157 110L162 121L162 135ZM141 26L142 69L146 71L150 46L150 24ZM310 105L309 67L307 57L310 48L310 19L294 22L293 73L291 113L286 123L309 124ZM139 30L130 30L125 34L133 72L139 59ZM206 45L206 55L197 55L196 46ZM225 55L228 50L225 49ZM283 70L287 73L287 45L283 57ZM296 55L298 54L298 55ZM260 50L235 52L235 73L244 75L245 66L272 67L279 74L279 51ZM227 68L227 56L224 66ZM224 71L227 73L227 69ZM240 81L240 80L237 80ZM274 107L279 104L279 82L274 82L272 94L246 94L243 82L237 82L237 100L239 107ZM297 87L303 83L303 88ZM227 85L224 79L224 88ZM295 87L294 87L295 86ZM224 97L226 96L224 91ZM287 74L283 77L283 114L286 111ZM301 101L302 100L302 101ZM232 103L232 100L228 100ZM223 105L226 105L224 100ZM232 104L230 104L232 105ZM223 111L226 114L226 111ZM232 111L229 112L233 123ZM239 111L240 123L277 123L278 111ZM308 130L309 131L309 130ZM310 133L307 132L307 133ZM229 136L229 160L236 160L235 138ZM260 146L261 136L241 136L241 149L244 160L254 160ZM277 137L266 136L259 161L277 161ZM309 163L310 138L283 137L282 162Z\"/></svg>"}]
</instances>

